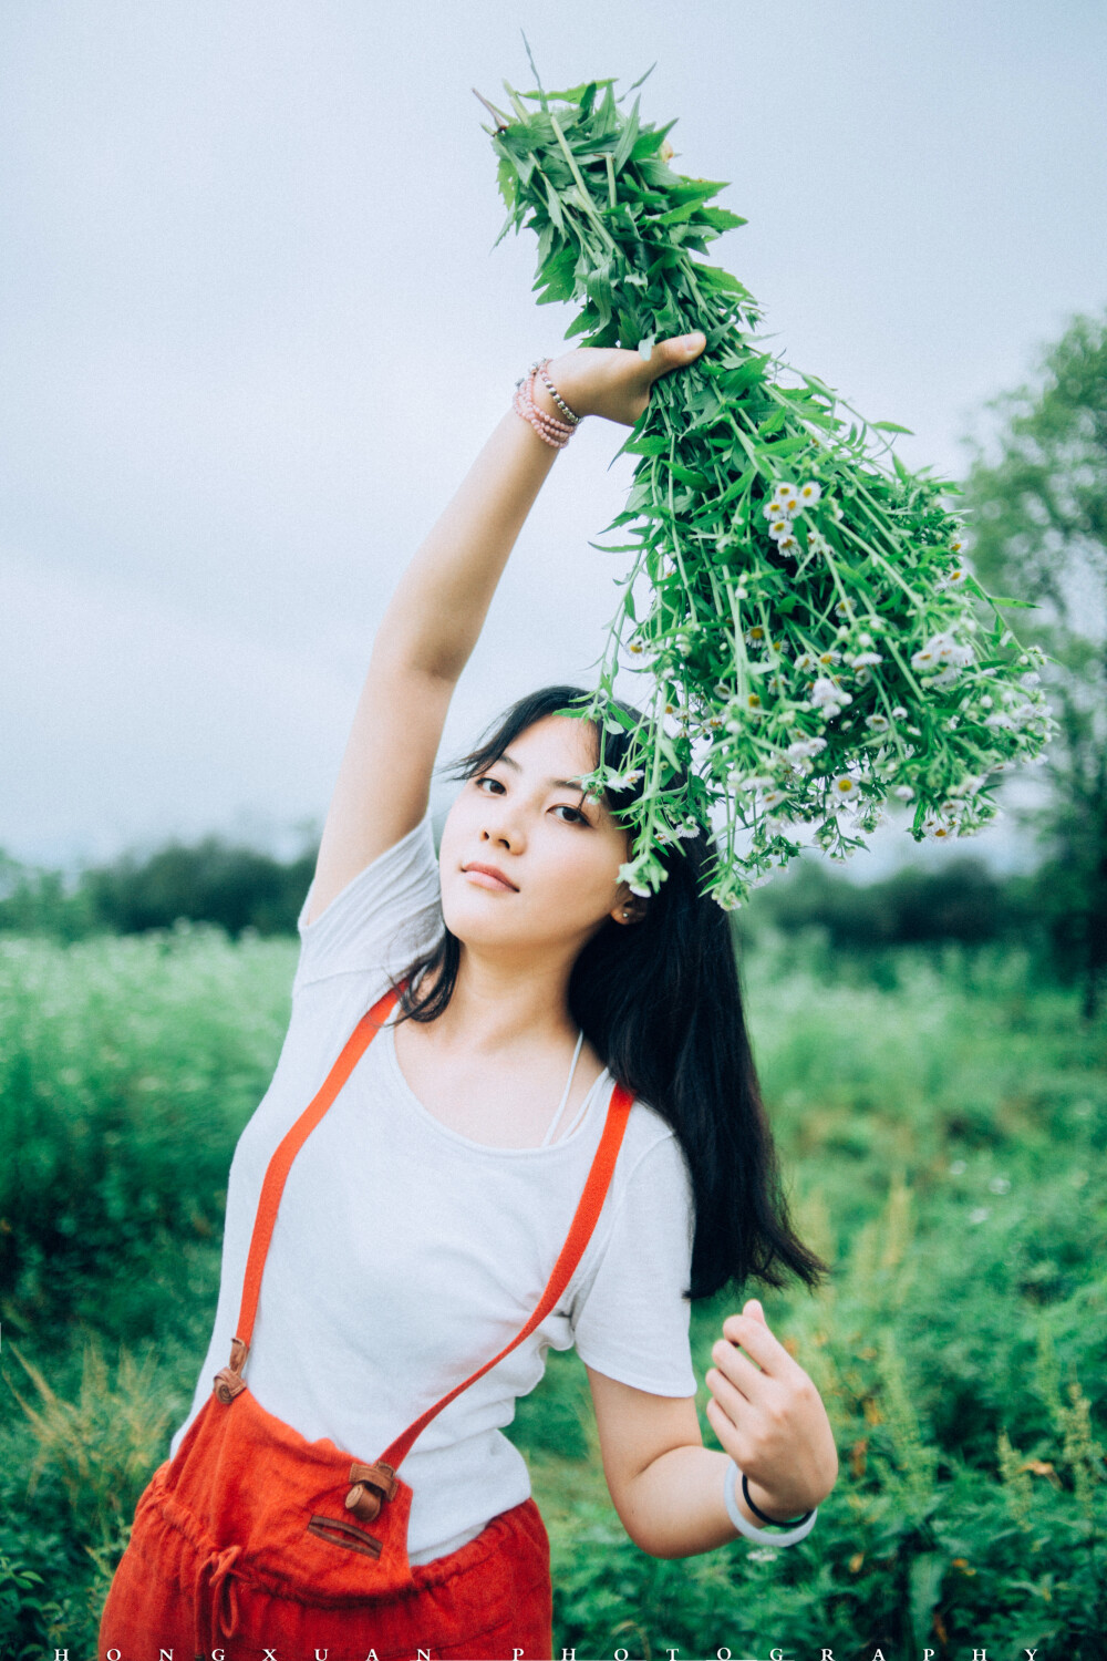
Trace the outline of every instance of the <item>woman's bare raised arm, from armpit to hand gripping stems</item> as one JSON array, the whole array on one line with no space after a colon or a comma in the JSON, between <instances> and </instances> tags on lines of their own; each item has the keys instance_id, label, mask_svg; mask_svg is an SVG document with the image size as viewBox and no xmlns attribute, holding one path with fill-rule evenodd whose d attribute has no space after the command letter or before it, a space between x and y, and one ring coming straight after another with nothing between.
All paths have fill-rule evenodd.
<instances>
[{"instance_id":1,"label":"woman's bare raised arm, from armpit to hand gripping stems","mask_svg":"<svg viewBox=\"0 0 1107 1661\"><path fill-rule=\"evenodd\" d=\"M634 425L652 382L704 347L659 341L637 352L578 347L548 374L569 409ZM541 380L534 404L561 410ZM397 583L377 630L327 811L307 922L427 812L446 711L558 450L508 409Z\"/></svg>"}]
</instances>

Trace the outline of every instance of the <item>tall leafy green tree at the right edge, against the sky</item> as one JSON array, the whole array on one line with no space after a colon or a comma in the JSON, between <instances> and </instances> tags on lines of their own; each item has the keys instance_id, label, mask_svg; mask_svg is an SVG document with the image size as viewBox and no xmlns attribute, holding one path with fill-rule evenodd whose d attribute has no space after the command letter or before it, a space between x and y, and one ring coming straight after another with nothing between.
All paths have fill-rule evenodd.
<instances>
[{"instance_id":1,"label":"tall leafy green tree at the right edge, against the sky","mask_svg":"<svg viewBox=\"0 0 1107 1661\"><path fill-rule=\"evenodd\" d=\"M1090 1020L1107 968L1107 312L1072 317L1041 350L1034 382L986 409L994 435L966 439L971 558L986 588L1037 605L1021 613L1019 638L1049 654L1061 731L1047 751L1051 801L1022 812L1046 855L1042 922Z\"/></svg>"}]
</instances>

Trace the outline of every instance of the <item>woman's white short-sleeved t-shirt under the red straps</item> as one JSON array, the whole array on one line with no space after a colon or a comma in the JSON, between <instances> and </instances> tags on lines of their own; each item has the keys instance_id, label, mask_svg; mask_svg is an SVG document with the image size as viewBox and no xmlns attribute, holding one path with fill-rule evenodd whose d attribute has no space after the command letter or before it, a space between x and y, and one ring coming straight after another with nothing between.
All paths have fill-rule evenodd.
<instances>
[{"instance_id":1,"label":"woman's white short-sleeved t-shirt under the red straps","mask_svg":"<svg viewBox=\"0 0 1107 1661\"><path fill-rule=\"evenodd\" d=\"M312 884L314 887L314 884ZM269 1090L227 1178L219 1304L184 1432L231 1359L246 1257L269 1158L358 1018L443 930L430 809L307 924L292 1015ZM393 1012L395 1013L395 1012ZM614 1078L604 1070L576 1123L546 1148L490 1148L417 1100L392 1026L372 1040L285 1179L244 1379L309 1440L372 1463L412 1420L496 1355L531 1317L564 1246ZM694 1201L672 1128L636 1100L591 1241L556 1307L461 1390L400 1465L412 1487L408 1556L465 1545L531 1493L503 1435L546 1350L656 1395L694 1395Z\"/></svg>"}]
</instances>

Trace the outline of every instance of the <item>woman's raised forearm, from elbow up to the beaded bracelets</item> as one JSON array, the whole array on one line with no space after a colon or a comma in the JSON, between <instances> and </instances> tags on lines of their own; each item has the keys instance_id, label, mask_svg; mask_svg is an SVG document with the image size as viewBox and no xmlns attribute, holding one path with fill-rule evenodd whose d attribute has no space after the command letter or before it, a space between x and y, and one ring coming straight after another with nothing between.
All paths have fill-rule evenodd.
<instances>
[{"instance_id":1,"label":"woman's raised forearm, from elbow up to the beaded bracelets","mask_svg":"<svg viewBox=\"0 0 1107 1661\"><path fill-rule=\"evenodd\" d=\"M559 415L544 387L534 404ZM375 656L456 681L558 450L508 409L397 583Z\"/></svg>"}]
</instances>

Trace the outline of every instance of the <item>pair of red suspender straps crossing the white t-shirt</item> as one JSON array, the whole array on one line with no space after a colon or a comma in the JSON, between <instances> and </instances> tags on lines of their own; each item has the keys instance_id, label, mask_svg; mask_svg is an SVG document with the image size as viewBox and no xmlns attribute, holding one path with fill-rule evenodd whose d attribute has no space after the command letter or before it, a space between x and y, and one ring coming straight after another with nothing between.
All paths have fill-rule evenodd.
<instances>
[{"instance_id":1,"label":"pair of red suspender straps crossing the white t-shirt","mask_svg":"<svg viewBox=\"0 0 1107 1661\"><path fill-rule=\"evenodd\" d=\"M266 1254L269 1252L269 1241L272 1239L274 1222L277 1221L277 1206L280 1204L280 1194L284 1193L284 1183L295 1159L297 1153L315 1129L322 1120L327 1108L332 1105L347 1078L360 1061L362 1055L373 1041L393 1005L397 1003L398 993L388 988L382 998L362 1015L360 1022L347 1038L342 1046L342 1053L327 1073L320 1090L312 1098L312 1101L304 1108L299 1120L289 1131L285 1131L279 1146L276 1148L269 1168L266 1171L266 1179L262 1183L261 1198L257 1201L257 1216L254 1218L254 1232L251 1237L249 1257L246 1259L246 1279L242 1282L242 1304L239 1309L237 1337L231 1342L231 1365L221 1369L216 1374L216 1395L221 1402L231 1402L239 1390L246 1389L242 1380L242 1367L246 1365L246 1357L251 1347L251 1337L254 1334L254 1317L257 1316L257 1299L261 1296L261 1277L266 1267ZM495 1367L496 1362L503 1360L516 1344L521 1344L534 1327L546 1319L549 1311L554 1307L563 1291L569 1284L573 1271L584 1254L593 1229L602 1211L604 1199L607 1196L607 1188L611 1186L611 1178L614 1174L616 1159L619 1158L619 1148L622 1146L622 1133L626 1131L627 1120L631 1116L631 1108L634 1105L634 1096L622 1085L616 1085L611 1093L611 1101L607 1105L607 1120L604 1123L602 1136L599 1138L599 1146L593 1158L593 1166L588 1173L588 1181L584 1183L584 1191L581 1194L579 1204L569 1224L569 1232L566 1236L561 1254L553 1267L553 1274L546 1284L546 1291L541 1296L538 1309L526 1322L524 1327L516 1332L510 1344L486 1360L483 1367L470 1374L461 1384L455 1385L448 1395L443 1395L440 1402L428 1407L415 1423L408 1425L395 1442L392 1442L385 1452L380 1455L380 1462L387 1462L392 1470L395 1470L400 1462L407 1457L408 1448L415 1438L425 1430L430 1420L446 1407L455 1395L468 1389L481 1374Z\"/></svg>"}]
</instances>

